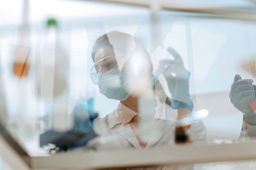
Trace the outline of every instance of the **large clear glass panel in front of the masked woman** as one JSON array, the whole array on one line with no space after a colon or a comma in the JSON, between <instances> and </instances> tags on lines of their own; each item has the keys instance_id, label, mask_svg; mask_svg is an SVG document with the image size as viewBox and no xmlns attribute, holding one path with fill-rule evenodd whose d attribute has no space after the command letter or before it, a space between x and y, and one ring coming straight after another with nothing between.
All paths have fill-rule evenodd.
<instances>
[{"instance_id":1,"label":"large clear glass panel in front of the masked woman","mask_svg":"<svg viewBox=\"0 0 256 170\"><path fill-rule=\"evenodd\" d=\"M0 120L32 157L254 139L253 82L230 91L236 74L255 79L255 21L83 1L29 9L28 30L0 23ZM90 71L108 58L113 69Z\"/></svg>"}]
</instances>

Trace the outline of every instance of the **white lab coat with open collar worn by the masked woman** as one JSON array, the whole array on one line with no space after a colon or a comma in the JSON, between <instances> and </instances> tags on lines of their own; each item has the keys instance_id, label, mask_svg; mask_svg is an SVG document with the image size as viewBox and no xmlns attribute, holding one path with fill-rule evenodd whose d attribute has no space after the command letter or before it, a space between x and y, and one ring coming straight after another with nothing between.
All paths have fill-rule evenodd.
<instances>
[{"instance_id":1,"label":"white lab coat with open collar worn by the masked woman","mask_svg":"<svg viewBox=\"0 0 256 170\"><path fill-rule=\"evenodd\" d=\"M167 125L161 126L162 128L158 130L159 134L147 142L145 149L157 146L168 147L175 145L175 122L177 120L177 110L172 109L169 104L166 104L167 96L163 91L162 85L156 84L156 87L155 94L157 96L157 113L155 117L158 118L157 124L161 125L163 123L167 123ZM142 149L130 124L121 124L117 115L117 109L106 115L106 117L94 119L93 129L97 134L99 134L99 137L90 141L89 144L97 144L98 149ZM207 142L207 130L201 120L191 125L188 134L193 143ZM145 170L145 168L138 169ZM148 170L150 168L146 169ZM161 167L157 169L193 170L194 168L193 166L184 166Z\"/></svg>"}]
</instances>

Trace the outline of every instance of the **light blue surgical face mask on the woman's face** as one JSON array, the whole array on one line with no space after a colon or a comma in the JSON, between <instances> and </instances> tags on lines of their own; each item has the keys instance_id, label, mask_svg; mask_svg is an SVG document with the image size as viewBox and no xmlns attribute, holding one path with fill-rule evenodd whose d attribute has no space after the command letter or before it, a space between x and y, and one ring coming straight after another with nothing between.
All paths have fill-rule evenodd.
<instances>
[{"instance_id":1,"label":"light blue surgical face mask on the woman's face","mask_svg":"<svg viewBox=\"0 0 256 170\"><path fill-rule=\"evenodd\" d=\"M123 70L114 68L106 73L99 72L99 92L109 99L126 100L130 96L127 78Z\"/></svg>"}]
</instances>

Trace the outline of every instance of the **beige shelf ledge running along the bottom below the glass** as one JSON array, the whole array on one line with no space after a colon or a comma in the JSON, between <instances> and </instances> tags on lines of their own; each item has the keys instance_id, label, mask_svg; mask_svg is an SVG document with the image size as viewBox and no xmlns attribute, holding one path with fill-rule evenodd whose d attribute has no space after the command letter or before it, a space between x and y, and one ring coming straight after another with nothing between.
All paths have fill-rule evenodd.
<instances>
[{"instance_id":1,"label":"beige shelf ledge running along the bottom below the glass","mask_svg":"<svg viewBox=\"0 0 256 170\"><path fill-rule=\"evenodd\" d=\"M256 160L256 141L187 144L150 149L75 150L55 155L28 155L0 135L0 155L13 170L103 170L224 161ZM15 162L15 163L13 163Z\"/></svg>"}]
</instances>

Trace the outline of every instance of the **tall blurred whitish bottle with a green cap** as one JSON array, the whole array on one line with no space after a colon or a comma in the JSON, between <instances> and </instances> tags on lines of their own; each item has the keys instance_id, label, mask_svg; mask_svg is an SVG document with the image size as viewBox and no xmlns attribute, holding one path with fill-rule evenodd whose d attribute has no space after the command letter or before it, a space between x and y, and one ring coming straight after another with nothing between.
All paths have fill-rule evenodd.
<instances>
[{"instance_id":1,"label":"tall blurred whitish bottle with a green cap","mask_svg":"<svg viewBox=\"0 0 256 170\"><path fill-rule=\"evenodd\" d=\"M41 46L40 79L38 79L38 95L45 100L45 104L52 103L48 108L50 128L58 132L67 132L74 126L74 119L69 110L69 58L70 36L63 32L54 18L47 19L45 41ZM45 105L47 106L47 105Z\"/></svg>"}]
</instances>

